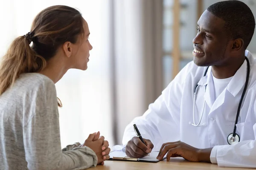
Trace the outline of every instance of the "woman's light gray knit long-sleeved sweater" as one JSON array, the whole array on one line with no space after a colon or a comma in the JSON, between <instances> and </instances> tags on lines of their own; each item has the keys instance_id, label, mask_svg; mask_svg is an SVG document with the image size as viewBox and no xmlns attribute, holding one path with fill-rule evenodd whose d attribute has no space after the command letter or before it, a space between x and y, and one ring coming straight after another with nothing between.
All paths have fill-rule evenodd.
<instances>
[{"instance_id":1,"label":"woman's light gray knit long-sleeved sweater","mask_svg":"<svg viewBox=\"0 0 256 170\"><path fill-rule=\"evenodd\" d=\"M96 166L89 147L61 150L55 84L22 74L0 96L0 170L81 170Z\"/></svg>"}]
</instances>

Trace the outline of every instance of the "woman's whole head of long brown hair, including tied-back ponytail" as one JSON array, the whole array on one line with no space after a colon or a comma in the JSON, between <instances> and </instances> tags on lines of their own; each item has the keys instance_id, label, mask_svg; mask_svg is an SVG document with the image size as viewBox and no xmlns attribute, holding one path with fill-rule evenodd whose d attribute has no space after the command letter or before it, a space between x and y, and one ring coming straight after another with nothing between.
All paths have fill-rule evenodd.
<instances>
[{"instance_id":1,"label":"woman's whole head of long brown hair, including tied-back ponytail","mask_svg":"<svg viewBox=\"0 0 256 170\"><path fill-rule=\"evenodd\" d=\"M34 19L31 31L17 37L2 57L0 95L14 84L20 74L43 70L47 60L64 42L76 43L83 32L83 18L75 8L51 6L41 11ZM59 99L58 106L61 107Z\"/></svg>"}]
</instances>

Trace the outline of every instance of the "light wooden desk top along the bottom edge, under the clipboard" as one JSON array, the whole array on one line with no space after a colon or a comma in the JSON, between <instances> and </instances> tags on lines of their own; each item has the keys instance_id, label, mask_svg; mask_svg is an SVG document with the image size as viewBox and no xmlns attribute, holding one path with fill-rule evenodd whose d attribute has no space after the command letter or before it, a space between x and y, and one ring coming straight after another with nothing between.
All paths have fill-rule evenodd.
<instances>
[{"instance_id":1,"label":"light wooden desk top along the bottom edge, under the clipboard","mask_svg":"<svg viewBox=\"0 0 256 170\"><path fill-rule=\"evenodd\" d=\"M253 169L245 168L244 170ZM241 168L218 167L216 164L189 162L182 158L172 158L169 162L157 163L134 161L105 161L105 164L88 170L241 170Z\"/></svg>"}]
</instances>

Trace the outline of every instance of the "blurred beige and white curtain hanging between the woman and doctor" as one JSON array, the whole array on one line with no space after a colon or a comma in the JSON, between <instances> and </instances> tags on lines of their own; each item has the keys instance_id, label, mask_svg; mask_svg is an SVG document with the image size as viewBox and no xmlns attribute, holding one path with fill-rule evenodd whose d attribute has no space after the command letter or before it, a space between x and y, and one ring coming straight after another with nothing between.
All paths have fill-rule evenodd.
<instances>
[{"instance_id":1,"label":"blurred beige and white curtain hanging between the woman and doctor","mask_svg":"<svg viewBox=\"0 0 256 170\"><path fill-rule=\"evenodd\" d=\"M113 0L115 144L163 89L162 6L162 0Z\"/></svg>"}]
</instances>

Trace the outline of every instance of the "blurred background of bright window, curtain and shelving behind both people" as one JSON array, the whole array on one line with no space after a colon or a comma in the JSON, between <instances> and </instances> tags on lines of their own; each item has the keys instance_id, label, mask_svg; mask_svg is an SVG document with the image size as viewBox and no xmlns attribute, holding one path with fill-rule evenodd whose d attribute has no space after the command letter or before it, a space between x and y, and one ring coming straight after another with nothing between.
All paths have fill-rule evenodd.
<instances>
[{"instance_id":1,"label":"blurred background of bright window, curtain and shelving behind both people","mask_svg":"<svg viewBox=\"0 0 256 170\"><path fill-rule=\"evenodd\" d=\"M192 40L203 11L219 0L0 0L0 56L33 18L52 5L79 9L90 29L86 71L69 70L56 83L62 147L100 131L122 144L125 126L141 116L193 60ZM255 0L241 0L253 14ZM256 53L256 35L248 50Z\"/></svg>"}]
</instances>

